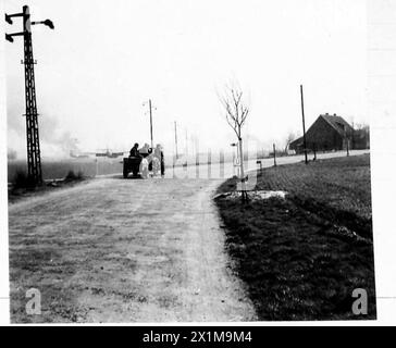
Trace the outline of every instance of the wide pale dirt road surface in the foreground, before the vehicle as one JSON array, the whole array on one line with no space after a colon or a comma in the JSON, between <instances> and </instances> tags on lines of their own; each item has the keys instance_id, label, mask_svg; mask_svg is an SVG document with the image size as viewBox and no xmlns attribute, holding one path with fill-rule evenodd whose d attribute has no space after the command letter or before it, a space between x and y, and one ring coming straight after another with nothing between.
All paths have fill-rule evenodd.
<instances>
[{"instance_id":1,"label":"wide pale dirt road surface in the foreground, before the vehicle","mask_svg":"<svg viewBox=\"0 0 396 348\"><path fill-rule=\"evenodd\" d=\"M216 181L95 179L10 207L16 322L248 321L210 195ZM25 293L41 293L41 315Z\"/></svg>"}]
</instances>

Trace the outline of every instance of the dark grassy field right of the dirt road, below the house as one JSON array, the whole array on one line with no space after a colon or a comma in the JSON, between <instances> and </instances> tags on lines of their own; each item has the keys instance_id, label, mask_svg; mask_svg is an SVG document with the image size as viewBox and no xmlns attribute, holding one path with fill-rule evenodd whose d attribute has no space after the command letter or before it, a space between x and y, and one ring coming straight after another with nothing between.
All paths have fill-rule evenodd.
<instances>
[{"instance_id":1,"label":"dark grassy field right of the dirt road, below the house","mask_svg":"<svg viewBox=\"0 0 396 348\"><path fill-rule=\"evenodd\" d=\"M219 192L235 185L230 179ZM370 157L271 167L257 189L288 195L215 201L260 320L375 319ZM355 288L368 291L368 315L351 311Z\"/></svg>"}]
</instances>

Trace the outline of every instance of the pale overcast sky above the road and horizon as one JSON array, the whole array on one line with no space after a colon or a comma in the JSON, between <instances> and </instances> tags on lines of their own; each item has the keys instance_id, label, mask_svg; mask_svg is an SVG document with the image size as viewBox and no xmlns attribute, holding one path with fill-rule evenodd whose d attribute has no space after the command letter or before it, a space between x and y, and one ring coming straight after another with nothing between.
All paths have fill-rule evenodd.
<instances>
[{"instance_id":1,"label":"pale overcast sky above the road and horizon","mask_svg":"<svg viewBox=\"0 0 396 348\"><path fill-rule=\"evenodd\" d=\"M368 123L367 9L361 0L5 0L30 5L41 151L127 150L154 142L173 151L173 122L202 149L234 134L218 98L230 80L248 97L245 134L269 146L301 133L299 85L309 126L320 113ZM7 25L18 32L21 22ZM25 153L23 42L7 42L9 147ZM145 114L146 112L146 114Z\"/></svg>"}]
</instances>

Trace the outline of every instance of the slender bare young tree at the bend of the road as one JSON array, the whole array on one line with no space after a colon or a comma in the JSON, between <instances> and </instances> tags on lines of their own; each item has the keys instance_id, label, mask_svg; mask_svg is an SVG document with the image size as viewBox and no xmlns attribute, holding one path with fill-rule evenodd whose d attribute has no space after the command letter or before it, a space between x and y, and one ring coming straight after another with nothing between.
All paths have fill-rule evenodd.
<instances>
[{"instance_id":1,"label":"slender bare young tree at the bend of the road","mask_svg":"<svg viewBox=\"0 0 396 348\"><path fill-rule=\"evenodd\" d=\"M248 199L246 191L246 177L244 171L244 151L243 151L243 140L242 140L242 128L246 122L249 114L249 108L246 105L244 99L244 94L240 87L233 86L226 87L223 96L220 96L220 101L225 109L225 119L235 132L238 139L238 157L240 165L240 183L242 183L242 198L243 201Z\"/></svg>"}]
</instances>

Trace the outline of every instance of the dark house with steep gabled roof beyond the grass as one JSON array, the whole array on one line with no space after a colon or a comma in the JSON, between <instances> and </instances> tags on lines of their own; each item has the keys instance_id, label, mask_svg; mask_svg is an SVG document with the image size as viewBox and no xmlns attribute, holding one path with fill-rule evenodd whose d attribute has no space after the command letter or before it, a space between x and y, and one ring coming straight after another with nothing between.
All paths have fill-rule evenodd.
<instances>
[{"instance_id":1,"label":"dark house with steep gabled roof beyond the grass","mask_svg":"<svg viewBox=\"0 0 396 348\"><path fill-rule=\"evenodd\" d=\"M347 141L350 149L354 144L354 128L341 116L329 113L320 115L306 132L307 149L310 151L346 150ZM304 138L300 137L289 145L289 150L304 152Z\"/></svg>"}]
</instances>

